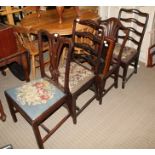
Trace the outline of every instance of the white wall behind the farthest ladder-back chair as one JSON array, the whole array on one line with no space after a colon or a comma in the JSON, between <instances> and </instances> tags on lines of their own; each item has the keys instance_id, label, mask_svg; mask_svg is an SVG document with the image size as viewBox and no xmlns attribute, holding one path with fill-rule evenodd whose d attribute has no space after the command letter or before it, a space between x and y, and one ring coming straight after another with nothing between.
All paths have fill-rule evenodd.
<instances>
[{"instance_id":1,"label":"white wall behind the farthest ladder-back chair","mask_svg":"<svg viewBox=\"0 0 155 155\"><path fill-rule=\"evenodd\" d=\"M122 6L123 8L137 8L142 12L149 13L149 21L147 25L147 29L144 35L141 53L140 53L140 61L146 64L147 62L147 52L150 46L150 32L152 29L153 16L155 12L155 6ZM102 19L106 19L109 17L118 17L118 12L121 6L100 6L99 7L99 15Z\"/></svg>"}]
</instances>

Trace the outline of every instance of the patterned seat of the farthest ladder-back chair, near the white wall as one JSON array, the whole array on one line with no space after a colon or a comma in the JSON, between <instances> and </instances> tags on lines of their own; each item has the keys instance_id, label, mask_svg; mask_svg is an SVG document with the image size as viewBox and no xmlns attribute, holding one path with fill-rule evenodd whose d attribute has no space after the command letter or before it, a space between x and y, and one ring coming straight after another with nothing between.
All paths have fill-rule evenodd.
<instances>
[{"instance_id":1,"label":"patterned seat of the farthest ladder-back chair, near the white wall","mask_svg":"<svg viewBox=\"0 0 155 155\"><path fill-rule=\"evenodd\" d=\"M117 43L114 49L114 58L117 57L118 53L120 52L121 44ZM137 54L137 50L135 48L125 46L123 49L121 61L123 63L129 62L135 55Z\"/></svg>"}]
</instances>

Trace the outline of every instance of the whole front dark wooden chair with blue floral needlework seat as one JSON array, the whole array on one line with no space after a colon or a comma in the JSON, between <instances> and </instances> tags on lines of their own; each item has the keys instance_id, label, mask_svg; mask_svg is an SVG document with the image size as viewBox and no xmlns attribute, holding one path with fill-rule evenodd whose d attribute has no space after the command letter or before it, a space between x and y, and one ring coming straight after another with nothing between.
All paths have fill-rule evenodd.
<instances>
[{"instance_id":1,"label":"whole front dark wooden chair with blue floral needlework seat","mask_svg":"<svg viewBox=\"0 0 155 155\"><path fill-rule=\"evenodd\" d=\"M47 43L49 44L50 65L49 68L46 67L46 69L43 59L44 43L42 42L42 35L47 36ZM67 38L60 37L58 34L50 34L43 30L39 31L38 36L41 78L23 84L22 86L8 89L5 91L5 96L13 121L17 122L16 113L19 112L32 126L38 147L44 148L43 143L67 120L67 118L72 116L73 120L75 120L68 86L72 42ZM65 61L64 84L62 86L59 83L59 61L62 51L66 47L68 50L65 50L67 52L67 57ZM49 70L50 77L46 76L45 70ZM63 108L64 105L66 105L65 108ZM61 116L63 118L52 129L48 129L43 123L48 118L50 121L50 116L53 116L60 108L64 110L67 109L67 114L63 113L63 116ZM40 126L47 132L44 137L40 132Z\"/></svg>"}]
</instances>

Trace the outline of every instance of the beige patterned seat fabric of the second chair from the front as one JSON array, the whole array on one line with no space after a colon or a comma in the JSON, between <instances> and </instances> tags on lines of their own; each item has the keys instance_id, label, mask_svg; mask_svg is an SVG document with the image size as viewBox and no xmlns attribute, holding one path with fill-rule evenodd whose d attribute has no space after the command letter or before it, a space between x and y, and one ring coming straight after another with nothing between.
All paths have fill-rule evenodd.
<instances>
[{"instance_id":1,"label":"beige patterned seat fabric of the second chair from the front","mask_svg":"<svg viewBox=\"0 0 155 155\"><path fill-rule=\"evenodd\" d=\"M64 86L64 75L65 75L65 66L59 68L60 77L59 83ZM49 71L46 72L50 76ZM72 62L70 65L70 74L69 74L69 88L71 93L76 92L83 84L94 77L94 73L90 70L78 65L77 63Z\"/></svg>"}]
</instances>

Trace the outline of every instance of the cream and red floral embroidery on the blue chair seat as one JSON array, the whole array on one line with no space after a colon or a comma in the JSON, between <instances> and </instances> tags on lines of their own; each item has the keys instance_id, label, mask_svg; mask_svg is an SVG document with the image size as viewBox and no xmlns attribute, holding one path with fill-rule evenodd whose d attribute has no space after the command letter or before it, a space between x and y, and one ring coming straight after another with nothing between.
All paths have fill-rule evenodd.
<instances>
[{"instance_id":1,"label":"cream and red floral embroidery on the blue chair seat","mask_svg":"<svg viewBox=\"0 0 155 155\"><path fill-rule=\"evenodd\" d=\"M17 100L22 105L46 104L53 97L53 87L43 79L26 83L16 89Z\"/></svg>"}]
</instances>

